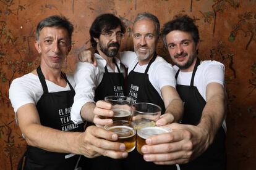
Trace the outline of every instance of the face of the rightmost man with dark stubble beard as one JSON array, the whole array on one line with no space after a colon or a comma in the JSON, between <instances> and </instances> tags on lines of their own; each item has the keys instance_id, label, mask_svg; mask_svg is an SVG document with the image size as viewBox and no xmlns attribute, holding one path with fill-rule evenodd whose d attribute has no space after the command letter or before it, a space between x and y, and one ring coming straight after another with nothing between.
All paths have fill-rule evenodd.
<instances>
[{"instance_id":1,"label":"face of the rightmost man with dark stubble beard","mask_svg":"<svg viewBox=\"0 0 256 170\"><path fill-rule=\"evenodd\" d=\"M166 35L166 44L177 67L184 71L192 71L198 49L192 35L179 30L171 31Z\"/></svg>"}]
</instances>

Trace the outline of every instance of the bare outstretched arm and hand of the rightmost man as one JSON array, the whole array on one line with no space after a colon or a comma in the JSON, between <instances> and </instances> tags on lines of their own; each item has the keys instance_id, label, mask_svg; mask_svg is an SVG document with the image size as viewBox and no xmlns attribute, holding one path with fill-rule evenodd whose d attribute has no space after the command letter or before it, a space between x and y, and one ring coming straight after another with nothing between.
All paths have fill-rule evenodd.
<instances>
[{"instance_id":1,"label":"bare outstretched arm and hand of the rightmost man","mask_svg":"<svg viewBox=\"0 0 256 170\"><path fill-rule=\"evenodd\" d=\"M147 145L142 147L144 159L156 164L187 163L194 160L213 142L223 119L224 88L221 84L210 83L200 123L197 126L170 124L173 132L146 140Z\"/></svg>"}]
</instances>

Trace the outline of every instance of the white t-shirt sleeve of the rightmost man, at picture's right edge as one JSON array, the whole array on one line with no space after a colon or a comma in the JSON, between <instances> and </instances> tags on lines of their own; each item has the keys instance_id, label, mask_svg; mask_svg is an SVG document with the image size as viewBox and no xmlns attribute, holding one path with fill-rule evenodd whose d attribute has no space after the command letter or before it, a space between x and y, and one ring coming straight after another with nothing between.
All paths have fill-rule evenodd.
<instances>
[{"instance_id":1,"label":"white t-shirt sleeve of the rightmost man, at picture's right edge","mask_svg":"<svg viewBox=\"0 0 256 170\"><path fill-rule=\"evenodd\" d=\"M220 62L213 61L205 69L205 84L220 83L224 85L224 65Z\"/></svg>"}]
</instances>

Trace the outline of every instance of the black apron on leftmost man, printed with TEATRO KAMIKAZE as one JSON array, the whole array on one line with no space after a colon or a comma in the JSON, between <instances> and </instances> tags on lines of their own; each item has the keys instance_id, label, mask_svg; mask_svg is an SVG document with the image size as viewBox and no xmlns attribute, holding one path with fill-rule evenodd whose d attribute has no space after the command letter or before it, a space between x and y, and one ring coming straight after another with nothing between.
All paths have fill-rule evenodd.
<instances>
[{"instance_id":1,"label":"black apron on leftmost man, printed with TEATRO KAMIKAZE","mask_svg":"<svg viewBox=\"0 0 256 170\"><path fill-rule=\"evenodd\" d=\"M36 104L41 125L60 131L83 132L83 124L74 124L70 119L70 110L74 102L75 91L64 73L70 91L48 92L45 76L41 68L37 68L38 77L43 87L43 95ZM67 146L69 147L69 146ZM41 148L27 146L24 169L75 169L79 155L70 153L48 152ZM19 167L21 167L19 165Z\"/></svg>"}]
</instances>

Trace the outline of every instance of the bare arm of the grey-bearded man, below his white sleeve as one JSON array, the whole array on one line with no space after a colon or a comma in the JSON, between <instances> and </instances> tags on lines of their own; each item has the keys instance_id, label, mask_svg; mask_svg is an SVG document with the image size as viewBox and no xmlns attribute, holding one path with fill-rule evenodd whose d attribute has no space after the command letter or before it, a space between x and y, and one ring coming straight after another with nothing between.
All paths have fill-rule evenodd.
<instances>
[{"instance_id":1,"label":"bare arm of the grey-bearded man, below his white sleeve","mask_svg":"<svg viewBox=\"0 0 256 170\"><path fill-rule=\"evenodd\" d=\"M168 124L177 122L182 118L184 107L179 94L172 86L164 86L161 89L166 111L156 124Z\"/></svg>"}]
</instances>

